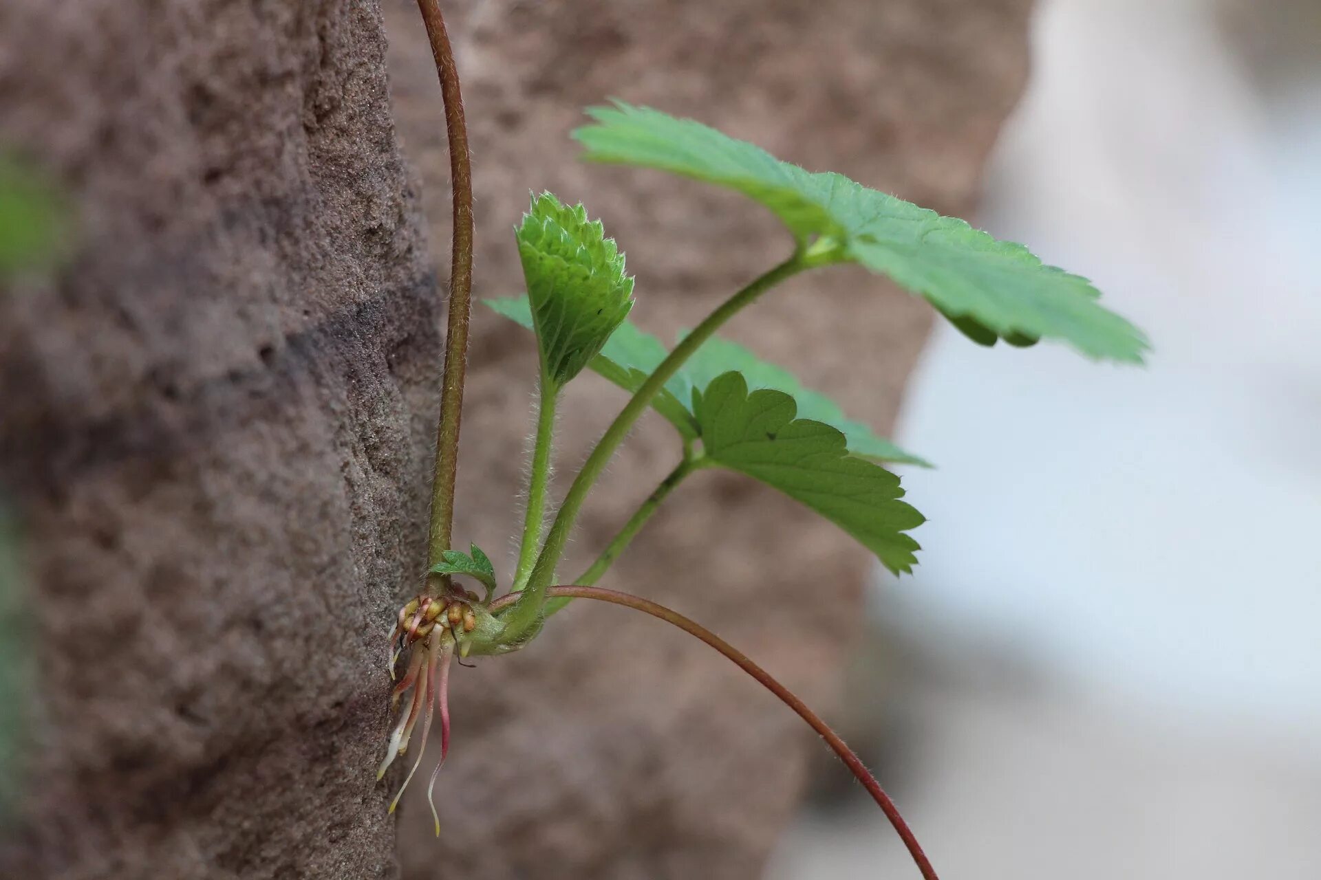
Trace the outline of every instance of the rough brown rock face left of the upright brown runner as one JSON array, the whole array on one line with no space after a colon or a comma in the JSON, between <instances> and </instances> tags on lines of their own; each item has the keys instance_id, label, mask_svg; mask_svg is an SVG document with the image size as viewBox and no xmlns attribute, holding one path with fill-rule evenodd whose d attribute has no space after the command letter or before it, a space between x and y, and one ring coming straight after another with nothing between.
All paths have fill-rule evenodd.
<instances>
[{"instance_id":1,"label":"rough brown rock face left of the upright brown runner","mask_svg":"<svg viewBox=\"0 0 1321 880\"><path fill-rule=\"evenodd\" d=\"M0 296L40 662L0 876L391 876L441 303L379 8L4 0L0 47L79 226Z\"/></svg>"}]
</instances>

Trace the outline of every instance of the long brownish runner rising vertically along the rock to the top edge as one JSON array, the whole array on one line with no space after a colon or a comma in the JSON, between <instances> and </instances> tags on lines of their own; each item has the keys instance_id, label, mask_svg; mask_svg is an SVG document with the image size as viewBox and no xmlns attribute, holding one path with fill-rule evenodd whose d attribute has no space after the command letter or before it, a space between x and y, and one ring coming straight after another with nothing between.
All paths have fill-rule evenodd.
<instances>
[{"instance_id":1,"label":"long brownish runner rising vertically along the rock to the top edge","mask_svg":"<svg viewBox=\"0 0 1321 880\"><path fill-rule=\"evenodd\" d=\"M464 96L458 88L454 51L437 0L417 0L431 38L431 54L445 100L449 136L449 175L454 194L454 243L449 268L449 322L445 329L445 373L440 388L440 427L436 430L436 471L431 489L427 567L441 561L454 530L454 475L458 468L458 424L464 409L464 371L468 367L468 321L473 286L473 169L464 123Z\"/></svg>"}]
</instances>

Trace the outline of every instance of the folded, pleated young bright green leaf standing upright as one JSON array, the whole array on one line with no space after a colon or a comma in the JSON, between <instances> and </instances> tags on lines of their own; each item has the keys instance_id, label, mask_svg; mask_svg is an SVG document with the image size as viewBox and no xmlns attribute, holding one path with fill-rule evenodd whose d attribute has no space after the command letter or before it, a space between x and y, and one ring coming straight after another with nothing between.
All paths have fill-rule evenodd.
<instances>
[{"instance_id":1,"label":"folded, pleated young bright green leaf standing upright","mask_svg":"<svg viewBox=\"0 0 1321 880\"><path fill-rule=\"evenodd\" d=\"M633 278L600 220L550 193L532 199L515 230L532 303L542 375L560 388L601 351L633 307Z\"/></svg>"}]
</instances>

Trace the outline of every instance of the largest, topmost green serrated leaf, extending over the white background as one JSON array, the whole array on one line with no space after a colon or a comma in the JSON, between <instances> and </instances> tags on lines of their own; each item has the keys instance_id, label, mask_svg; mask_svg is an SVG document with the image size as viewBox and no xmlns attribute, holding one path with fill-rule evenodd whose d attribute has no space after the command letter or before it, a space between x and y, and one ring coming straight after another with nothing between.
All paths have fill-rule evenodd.
<instances>
[{"instance_id":1,"label":"largest, topmost green serrated leaf, extending over the white background","mask_svg":"<svg viewBox=\"0 0 1321 880\"><path fill-rule=\"evenodd\" d=\"M1096 359L1141 363L1140 330L1098 305L1079 276L958 218L840 174L814 174L691 119L617 103L573 132L584 157L657 168L737 190L770 208L803 248L889 276L974 339L1061 339Z\"/></svg>"}]
</instances>

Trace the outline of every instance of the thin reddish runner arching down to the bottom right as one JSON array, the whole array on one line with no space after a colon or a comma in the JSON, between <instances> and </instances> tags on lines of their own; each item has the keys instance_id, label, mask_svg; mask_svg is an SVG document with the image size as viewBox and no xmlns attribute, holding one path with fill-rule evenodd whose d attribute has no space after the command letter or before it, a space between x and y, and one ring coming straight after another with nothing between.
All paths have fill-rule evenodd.
<instances>
[{"instance_id":1,"label":"thin reddish runner arching down to the bottom right","mask_svg":"<svg viewBox=\"0 0 1321 880\"><path fill-rule=\"evenodd\" d=\"M913 830L909 829L908 822L900 815L898 807L894 806L894 801L885 793L881 784L876 781L867 765L863 764L861 759L851 749L839 734L831 730L830 724L820 719L820 716L814 712L807 705L793 694L787 687L775 681L770 673L749 660L741 650L731 645L728 641L711 632L701 624L684 617L678 611L666 608L662 604L643 599L641 596L634 596L627 592L617 592L616 590L605 590L602 587L587 587L587 586L561 586L561 587L548 587L547 595L551 598L565 598L565 599L597 599L600 602L610 602L617 606L625 606L635 611L642 611L651 615L653 617L659 617L668 624L674 624L679 629L683 629L691 636L696 636L701 641L707 643L721 654L732 660L738 665L745 673L756 678L762 686L770 693L778 697L786 706L793 708L798 715L807 722L814 731L820 734L826 744L831 747L835 755L839 756L844 765L852 770L853 776L863 788L867 789L872 800L881 807L885 813L885 818L890 821L894 826L894 831L898 833L900 839L904 840L904 846L908 847L909 855L913 856L913 862L917 864L918 871L922 872L925 880L938 880L935 875L935 868L931 867L931 862L926 858L922 851L922 846L917 842L913 835ZM497 611L499 606L505 603L506 599L514 599L513 595L501 596L494 604L491 604L491 611Z\"/></svg>"}]
</instances>

